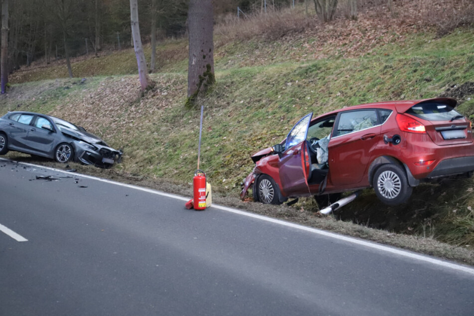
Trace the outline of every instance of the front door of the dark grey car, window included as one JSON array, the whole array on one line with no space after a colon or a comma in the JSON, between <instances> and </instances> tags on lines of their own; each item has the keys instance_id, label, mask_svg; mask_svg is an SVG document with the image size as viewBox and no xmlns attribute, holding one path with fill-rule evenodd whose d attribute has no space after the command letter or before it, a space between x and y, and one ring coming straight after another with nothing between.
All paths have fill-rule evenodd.
<instances>
[{"instance_id":1,"label":"front door of the dark grey car, window included","mask_svg":"<svg viewBox=\"0 0 474 316\"><path fill-rule=\"evenodd\" d=\"M47 127L48 129L43 128ZM53 124L45 117L36 116L28 129L28 133L25 139L25 148L29 151L36 152L41 156L51 157L57 133L53 127Z\"/></svg>"}]
</instances>

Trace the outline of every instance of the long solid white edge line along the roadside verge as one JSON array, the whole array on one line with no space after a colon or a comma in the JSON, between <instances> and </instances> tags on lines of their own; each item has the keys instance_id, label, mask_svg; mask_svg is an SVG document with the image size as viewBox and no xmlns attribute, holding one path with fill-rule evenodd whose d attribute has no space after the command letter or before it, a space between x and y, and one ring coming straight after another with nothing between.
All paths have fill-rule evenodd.
<instances>
[{"instance_id":1,"label":"long solid white edge line along the roadside verge","mask_svg":"<svg viewBox=\"0 0 474 316\"><path fill-rule=\"evenodd\" d=\"M8 159L4 159L4 158L0 158L0 160L12 161L12 160L8 160ZM132 189L136 189L136 190L140 190L140 191L144 191L144 192L149 192L149 193L152 193L152 194L158 194L158 195L161 195L161 196L171 197L171 198L175 198L175 199L182 200L182 201L188 201L189 200L189 198L186 198L186 197L183 197L183 196L170 194L170 193L164 193L164 192L160 192L160 191L157 191L157 190L136 186L136 185L133 185L133 184L115 182L115 181L102 179L102 178L98 178L98 177L94 177L94 176L90 176L90 175L79 174L79 173L75 173L75 172L67 172L67 171L64 171L64 170L45 167L45 166L36 165L36 164L32 164L32 163L18 162L18 161L12 161L12 162L25 164L25 165L29 165L29 166L34 166L34 167L37 167L37 168L48 169L48 170L51 170L51 171L57 171L57 172L63 172L63 173L71 174L71 175L82 176L84 178L94 179L94 180L98 180L98 181L102 181L102 182L106 182L106 183L111 183L111 184L115 184L115 185L120 185L120 186L123 186L123 187L128 187L128 188L132 188ZM436 258L416 254L416 253L413 253L413 252L409 252L409 251L406 251L406 250L402 250L402 249L398 249L398 248L394 248L394 247L390 247L390 246L385 246L385 245L381 245L381 244L377 244L377 243L374 243L374 242L364 241L364 240L360 240L360 239L356 239L356 238L352 238L352 237L348 237L348 236L343 236L343 235L339 235L339 234L335 234L335 233L330 233L330 232L327 232L327 231L324 231L324 230L321 230L321 229L307 227L307 226L303 226L303 225L299 225L299 224L295 224L295 223L290 223L290 222L286 222L286 221L276 219L276 218L272 218L272 217L266 217L266 216L263 216L263 215L249 213L249 212L241 211L241 210L238 210L238 209L235 209L235 208L220 206L220 205L216 205L216 204L212 204L211 207L217 208L217 209L220 209L220 210L223 210L223 211L232 212L232 213L235 213L235 214L248 216L248 217L264 220L264 221L267 221L267 222L279 224L279 225L282 225L282 226L287 226L287 227L300 229L300 230L303 230L303 231L311 232L311 233L322 235L322 236L325 236L325 237L350 242L350 243L353 243L353 244L356 244L356 245L360 245L360 246L364 246L364 247L368 247L368 248L372 248L372 249L377 249L377 250L380 250L380 251L385 251L385 252L392 253L392 254L395 254L395 255L399 255L399 256L403 256L403 257L407 257L407 258L411 258L411 259L415 259L415 260L419 260L419 261L423 261L423 262L428 262L428 263L431 263L431 264L434 264L434 265L437 265L437 266L441 266L441 267L445 267L445 268L449 268L449 269L453 269L453 270L457 270L457 271L462 271L462 272L474 275L474 268L471 268L471 267L468 267L468 266L463 266L463 265L456 264L456 263L453 263L453 262L449 262L449 261L445 261L445 260L440 260L440 259L436 259Z\"/></svg>"}]
</instances>

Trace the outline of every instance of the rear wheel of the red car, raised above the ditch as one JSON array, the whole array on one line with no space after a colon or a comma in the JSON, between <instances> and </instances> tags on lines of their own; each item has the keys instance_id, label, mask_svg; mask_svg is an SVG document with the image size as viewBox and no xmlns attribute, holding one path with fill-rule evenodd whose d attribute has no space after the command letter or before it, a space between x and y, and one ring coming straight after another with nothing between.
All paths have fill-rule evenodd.
<instances>
[{"instance_id":1,"label":"rear wheel of the red car, raised above the ditch","mask_svg":"<svg viewBox=\"0 0 474 316\"><path fill-rule=\"evenodd\" d=\"M374 190L386 205L399 205L408 200L413 188L405 170L398 164L382 164L374 174Z\"/></svg>"}]
</instances>

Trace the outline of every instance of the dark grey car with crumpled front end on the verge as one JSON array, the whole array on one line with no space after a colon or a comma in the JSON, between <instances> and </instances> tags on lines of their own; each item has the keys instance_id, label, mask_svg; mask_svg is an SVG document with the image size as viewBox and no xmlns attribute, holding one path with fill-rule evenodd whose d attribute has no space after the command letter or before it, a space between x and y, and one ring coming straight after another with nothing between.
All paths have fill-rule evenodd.
<instances>
[{"instance_id":1,"label":"dark grey car with crumpled front end on the verge","mask_svg":"<svg viewBox=\"0 0 474 316\"><path fill-rule=\"evenodd\" d=\"M8 151L77 161L107 168L120 162L121 150L67 121L32 112L8 112L0 118L0 155Z\"/></svg>"}]
</instances>

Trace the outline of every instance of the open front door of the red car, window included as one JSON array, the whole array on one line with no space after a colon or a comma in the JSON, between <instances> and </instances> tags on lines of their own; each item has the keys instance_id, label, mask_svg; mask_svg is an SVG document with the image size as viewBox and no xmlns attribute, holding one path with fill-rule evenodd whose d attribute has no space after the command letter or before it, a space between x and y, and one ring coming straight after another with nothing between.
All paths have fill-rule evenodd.
<instances>
[{"instance_id":1,"label":"open front door of the red car, window included","mask_svg":"<svg viewBox=\"0 0 474 316\"><path fill-rule=\"evenodd\" d=\"M280 154L278 162L280 183L288 196L309 192L308 175L304 151L308 150L306 136L313 112L302 118L287 136L285 151Z\"/></svg>"}]
</instances>

